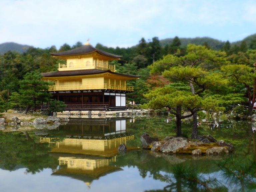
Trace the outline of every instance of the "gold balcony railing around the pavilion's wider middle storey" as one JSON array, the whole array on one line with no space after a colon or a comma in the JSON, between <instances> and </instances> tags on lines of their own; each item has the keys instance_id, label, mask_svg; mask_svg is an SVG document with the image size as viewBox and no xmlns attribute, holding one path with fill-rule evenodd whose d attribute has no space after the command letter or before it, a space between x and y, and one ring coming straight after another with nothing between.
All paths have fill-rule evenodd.
<instances>
[{"instance_id":1,"label":"gold balcony railing around the pavilion's wider middle storey","mask_svg":"<svg viewBox=\"0 0 256 192\"><path fill-rule=\"evenodd\" d=\"M122 85L59 85L49 86L49 91L72 91L72 90L93 90L93 89L112 89L121 91L133 91L133 86L122 86Z\"/></svg>"}]
</instances>

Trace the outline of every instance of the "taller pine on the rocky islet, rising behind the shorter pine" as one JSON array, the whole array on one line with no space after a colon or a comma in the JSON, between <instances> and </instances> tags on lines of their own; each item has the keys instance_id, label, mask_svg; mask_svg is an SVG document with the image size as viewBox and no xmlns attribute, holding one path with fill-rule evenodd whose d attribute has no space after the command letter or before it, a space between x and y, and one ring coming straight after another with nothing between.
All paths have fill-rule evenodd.
<instances>
[{"instance_id":1,"label":"taller pine on the rocky islet, rising behind the shorter pine","mask_svg":"<svg viewBox=\"0 0 256 192\"><path fill-rule=\"evenodd\" d=\"M187 55L177 57L167 55L162 60L155 62L151 67L151 73L164 72L163 75L173 80L186 81L190 86L193 95L198 95L205 91L210 82L215 82L211 78L205 79L207 70L219 67L226 63L223 58L224 52L208 50L205 46L189 44L187 46ZM203 68L201 70L200 68ZM202 78L201 80L199 80ZM207 85L208 84L208 85ZM214 84L214 83L213 83ZM217 83L215 83L217 84ZM194 108L193 110L196 110ZM193 130L192 138L197 137L197 113L193 111Z\"/></svg>"}]
</instances>

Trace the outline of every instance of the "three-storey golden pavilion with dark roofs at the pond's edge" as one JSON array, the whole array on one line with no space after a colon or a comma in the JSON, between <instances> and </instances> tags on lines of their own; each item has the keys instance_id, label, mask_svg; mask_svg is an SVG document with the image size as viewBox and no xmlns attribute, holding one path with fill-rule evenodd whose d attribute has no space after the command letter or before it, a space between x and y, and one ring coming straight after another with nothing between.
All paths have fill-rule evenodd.
<instances>
[{"instance_id":1,"label":"three-storey golden pavilion with dark roofs at the pond's edge","mask_svg":"<svg viewBox=\"0 0 256 192\"><path fill-rule=\"evenodd\" d=\"M122 56L94 48L89 43L68 51L51 53L59 63L58 71L42 73L43 79L54 82L49 87L53 99L63 101L69 109L123 110L126 94L133 91L127 80L140 76L117 73L113 60Z\"/></svg>"}]
</instances>

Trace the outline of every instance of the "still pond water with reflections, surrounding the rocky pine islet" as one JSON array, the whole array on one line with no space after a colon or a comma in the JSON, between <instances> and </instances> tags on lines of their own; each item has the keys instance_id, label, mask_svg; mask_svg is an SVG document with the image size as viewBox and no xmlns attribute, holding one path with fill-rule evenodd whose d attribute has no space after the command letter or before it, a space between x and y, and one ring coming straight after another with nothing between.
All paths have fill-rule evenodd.
<instances>
[{"instance_id":1,"label":"still pond water with reflections, surrounding the rocky pine islet","mask_svg":"<svg viewBox=\"0 0 256 192\"><path fill-rule=\"evenodd\" d=\"M175 135L166 117L71 119L36 129L1 126L1 192L256 191L256 131L247 121L201 123L199 135L233 143L225 156L152 153L140 135ZM183 134L191 125L183 122ZM118 153L125 143L128 152Z\"/></svg>"}]
</instances>

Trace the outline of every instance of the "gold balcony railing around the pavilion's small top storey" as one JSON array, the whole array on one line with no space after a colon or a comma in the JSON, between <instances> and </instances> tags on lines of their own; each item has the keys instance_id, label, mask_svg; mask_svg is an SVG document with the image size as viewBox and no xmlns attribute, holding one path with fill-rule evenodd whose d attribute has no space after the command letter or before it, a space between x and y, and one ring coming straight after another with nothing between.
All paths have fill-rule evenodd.
<instances>
[{"instance_id":1,"label":"gold balcony railing around the pavilion's small top storey","mask_svg":"<svg viewBox=\"0 0 256 192\"><path fill-rule=\"evenodd\" d=\"M102 62L100 60L93 60L92 63L59 63L59 71L66 70L77 70L77 69L109 69L111 71L115 71L115 65L110 65L107 62Z\"/></svg>"}]
</instances>

